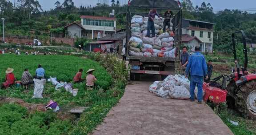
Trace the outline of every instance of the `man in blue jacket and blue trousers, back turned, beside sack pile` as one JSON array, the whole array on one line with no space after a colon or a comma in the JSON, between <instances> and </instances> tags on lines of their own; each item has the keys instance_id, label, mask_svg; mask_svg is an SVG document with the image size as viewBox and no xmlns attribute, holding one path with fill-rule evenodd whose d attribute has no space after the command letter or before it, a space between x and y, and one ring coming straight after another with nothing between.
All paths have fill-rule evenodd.
<instances>
[{"instance_id":1,"label":"man in blue jacket and blue trousers, back turned, beside sack pile","mask_svg":"<svg viewBox=\"0 0 256 135\"><path fill-rule=\"evenodd\" d=\"M204 77L208 79L207 75L207 64L204 58L204 55L200 53L200 47L196 46L195 53L189 57L188 65L186 68L186 78L190 72L191 80L190 80L190 101L195 101L194 99L194 91L197 85L197 100L198 103L202 103L203 99L203 80Z\"/></svg>"}]
</instances>

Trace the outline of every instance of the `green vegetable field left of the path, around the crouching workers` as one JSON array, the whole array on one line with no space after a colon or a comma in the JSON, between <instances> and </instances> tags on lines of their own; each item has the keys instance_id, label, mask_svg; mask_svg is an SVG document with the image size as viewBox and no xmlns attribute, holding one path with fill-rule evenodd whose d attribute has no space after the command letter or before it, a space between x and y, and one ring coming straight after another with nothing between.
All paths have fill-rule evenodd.
<instances>
[{"instance_id":1,"label":"green vegetable field left of the path, around the crouching workers","mask_svg":"<svg viewBox=\"0 0 256 135\"><path fill-rule=\"evenodd\" d=\"M97 87L93 90L87 90L85 83L75 84L74 87L79 89L75 97L64 88L56 91L49 82L44 87L44 99L31 99L33 87L29 87L28 90L16 86L0 89L0 96L19 98L28 103L46 105L52 99L59 104L61 111L76 106L89 107L80 117L60 120L59 114L52 111L28 113L19 105L0 103L0 135L87 135L102 122L110 108L118 103L124 93L123 89L112 86L114 79L108 71L98 62L90 59L61 55L5 54L0 55L0 63L0 82L4 81L7 67L14 68L13 73L16 79L20 80L25 68L35 75L38 64L42 64L47 77L56 77L63 82L72 83L73 76L80 68L84 69L82 78L86 77L85 72L89 68L96 69L93 74L97 78ZM26 130L21 131L21 129Z\"/></svg>"}]
</instances>

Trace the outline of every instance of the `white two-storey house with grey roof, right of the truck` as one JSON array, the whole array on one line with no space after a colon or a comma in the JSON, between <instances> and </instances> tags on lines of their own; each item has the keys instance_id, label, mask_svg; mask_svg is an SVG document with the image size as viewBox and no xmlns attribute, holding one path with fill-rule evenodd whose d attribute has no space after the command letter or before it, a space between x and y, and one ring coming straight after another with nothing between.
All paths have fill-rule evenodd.
<instances>
[{"instance_id":1,"label":"white two-storey house with grey roof, right of the truck","mask_svg":"<svg viewBox=\"0 0 256 135\"><path fill-rule=\"evenodd\" d=\"M182 20L182 34L190 37L196 37L199 41L193 43L193 46L200 46L202 52L212 53L213 47L213 23L198 20ZM185 37L185 36L183 36ZM193 38L194 39L194 38ZM197 40L197 41L198 41ZM190 45L190 44L188 44ZM191 46L192 47L192 46Z\"/></svg>"}]
</instances>

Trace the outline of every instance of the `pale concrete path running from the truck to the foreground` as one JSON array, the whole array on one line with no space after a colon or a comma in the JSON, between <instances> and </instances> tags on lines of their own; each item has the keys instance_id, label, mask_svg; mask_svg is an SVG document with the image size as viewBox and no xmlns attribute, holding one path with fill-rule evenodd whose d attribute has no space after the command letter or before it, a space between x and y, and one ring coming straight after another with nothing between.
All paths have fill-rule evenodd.
<instances>
[{"instance_id":1,"label":"pale concrete path running from the truck to the foreground","mask_svg":"<svg viewBox=\"0 0 256 135\"><path fill-rule=\"evenodd\" d=\"M164 99L133 82L92 135L233 135L206 104Z\"/></svg>"}]
</instances>

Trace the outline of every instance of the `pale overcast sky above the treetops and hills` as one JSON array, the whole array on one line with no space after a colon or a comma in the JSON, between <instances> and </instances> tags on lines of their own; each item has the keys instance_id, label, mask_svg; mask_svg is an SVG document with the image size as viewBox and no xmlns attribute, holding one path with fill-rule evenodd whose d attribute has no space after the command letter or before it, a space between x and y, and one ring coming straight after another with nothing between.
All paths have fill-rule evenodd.
<instances>
[{"instance_id":1,"label":"pale overcast sky above the treetops and hills","mask_svg":"<svg viewBox=\"0 0 256 135\"><path fill-rule=\"evenodd\" d=\"M14 0L11 0L14 1ZM54 3L57 0L38 0L40 4L42 5L44 10L49 10L50 8L54 8ZM59 0L60 3L63 3L64 0ZM95 6L96 3L98 3L99 0L73 0L76 6L83 5L83 6ZM103 0L100 0L103 1ZM109 3L111 0L106 0ZM116 0L115 0L116 1ZM120 4L127 3L128 0L119 0ZM199 6L201 5L202 2L206 2L206 4L209 2L212 4L212 7L214 10L223 10L225 8L228 9L246 9L246 10L251 10L249 8L254 8L256 10L256 0L192 0L194 6L198 4ZM255 11L254 11L255 12Z\"/></svg>"}]
</instances>

